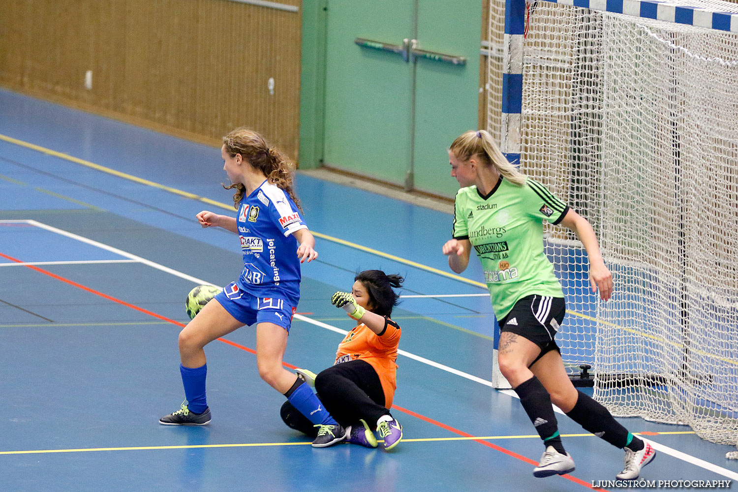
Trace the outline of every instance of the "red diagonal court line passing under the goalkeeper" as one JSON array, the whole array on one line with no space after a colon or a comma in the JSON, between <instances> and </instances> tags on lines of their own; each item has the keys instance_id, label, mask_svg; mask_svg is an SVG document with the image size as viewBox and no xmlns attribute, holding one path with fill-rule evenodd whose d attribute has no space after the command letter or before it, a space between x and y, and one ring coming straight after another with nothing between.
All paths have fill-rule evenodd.
<instances>
[{"instance_id":1,"label":"red diagonal court line passing under the goalkeeper","mask_svg":"<svg viewBox=\"0 0 738 492\"><path fill-rule=\"evenodd\" d=\"M14 261L15 263L24 263L23 261L17 260L17 259L15 259L13 257L10 257L7 254L0 253L0 256L1 257L4 257L4 258L7 258L8 260ZM124 306L126 306L128 308L135 309L136 311L140 311L142 313L148 314L149 316L154 316L157 319L162 319L163 321L170 322L173 325L182 326L182 327L185 326L183 323L181 323L179 321L175 321L173 319L169 319L166 316L162 316L161 314L157 314L157 313L154 313L152 311L148 311L148 310L146 310L144 308L139 308L137 305L133 305L133 304L131 304L129 302L125 302L125 301L123 301L121 299L117 299L116 297L108 296L108 294L103 294L100 291L94 290L94 288L86 287L85 285L82 285L80 283L76 283L73 280L69 280L69 279L66 279L64 277L60 277L57 274L52 274L52 272L47 271L47 270L44 270L44 268L38 268L38 266L34 266L34 265L24 265L24 266L26 266L27 268L31 268L32 270L38 271L39 273L42 273L44 275L48 275L49 277L55 278L56 280L60 280L61 282L68 283L69 285L74 285L75 287L81 288L83 291L87 291L90 294L95 294L96 296L100 296L100 297L103 297L103 298L108 299L110 301L117 302L118 304L122 304L122 305L124 305ZM253 350L252 348L249 348L249 347L245 347L244 345L237 344L235 342L231 342L230 340L223 339L223 338L220 338L218 340L220 342L224 342L224 343L227 343L229 345L232 345L233 347L240 348L241 350L246 350L246 352L248 352L248 353L256 354L256 350ZM293 366L292 364L288 364L286 362L282 362L282 364L284 366L286 366L286 367L289 367L290 369L297 369L297 366ZM407 415L412 415L413 417L419 418L420 420L424 420L427 423L432 423L434 426L441 427L441 429L446 429L446 431L453 432L454 434L458 434L458 435L463 436L463 437L474 437L474 436L472 436L472 434L467 434L466 432L460 431L459 429L456 429L455 427L447 426L445 423L438 422L438 420L433 420L430 417L426 417L425 415L421 415L419 413L413 412L412 410L404 409L401 406L393 405L392 408L393 409L397 409L400 412L407 413ZM537 461L531 460L530 458L525 457L522 454L517 454L517 453L515 453L513 451L510 451L509 449L506 449L506 448L497 446L496 444L489 443L486 440L483 440L483 439L474 439L474 441L476 443L482 444L483 446L487 446L488 448L492 448L495 451L500 451L500 453L507 454L510 457L514 457L517 460L524 461L524 462L526 462L526 463L528 463L530 465L534 465L534 466L537 466L538 465L538 462ZM596 490L596 491L604 491L605 490L603 488L593 487L593 485L591 485L590 483L584 482L584 480L578 479L576 477L572 477L571 475L568 475L568 474L567 475L562 475L561 477L562 478L565 478L565 479L568 479L568 480L571 480L572 482L574 482L576 484L583 485L584 487L591 488L591 489Z\"/></svg>"}]
</instances>

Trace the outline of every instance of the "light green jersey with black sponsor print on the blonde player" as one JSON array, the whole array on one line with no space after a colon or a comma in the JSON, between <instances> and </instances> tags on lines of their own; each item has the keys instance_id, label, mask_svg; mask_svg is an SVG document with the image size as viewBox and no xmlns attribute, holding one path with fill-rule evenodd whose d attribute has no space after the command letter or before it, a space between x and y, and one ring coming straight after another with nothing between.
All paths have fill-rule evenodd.
<instances>
[{"instance_id":1,"label":"light green jersey with black sponsor print on the blonde player","mask_svg":"<svg viewBox=\"0 0 738 492\"><path fill-rule=\"evenodd\" d=\"M477 251L497 319L525 296L564 297L543 252L543 221L559 224L568 209L531 178L519 187L500 177L486 196L476 186L456 193L453 237Z\"/></svg>"}]
</instances>

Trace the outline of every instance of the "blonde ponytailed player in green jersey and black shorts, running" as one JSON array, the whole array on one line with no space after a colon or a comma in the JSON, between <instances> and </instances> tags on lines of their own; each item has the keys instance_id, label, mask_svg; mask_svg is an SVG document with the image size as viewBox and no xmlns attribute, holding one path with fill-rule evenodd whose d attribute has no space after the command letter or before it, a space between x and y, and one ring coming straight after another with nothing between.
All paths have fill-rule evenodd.
<instances>
[{"instance_id":1,"label":"blonde ponytailed player in green jersey and black shorts, running","mask_svg":"<svg viewBox=\"0 0 738 492\"><path fill-rule=\"evenodd\" d=\"M655 457L650 443L633 436L600 403L573 387L554 341L565 300L543 252L543 221L576 232L590 261L590 286L610 299L613 280L592 226L548 189L510 164L486 131L467 131L449 148L456 194L453 239L444 244L449 267L466 270L472 248L482 262L500 325L498 361L523 404L545 451L535 477L562 475L574 462L559 437L554 403L588 432L625 449L618 479L637 479Z\"/></svg>"}]
</instances>

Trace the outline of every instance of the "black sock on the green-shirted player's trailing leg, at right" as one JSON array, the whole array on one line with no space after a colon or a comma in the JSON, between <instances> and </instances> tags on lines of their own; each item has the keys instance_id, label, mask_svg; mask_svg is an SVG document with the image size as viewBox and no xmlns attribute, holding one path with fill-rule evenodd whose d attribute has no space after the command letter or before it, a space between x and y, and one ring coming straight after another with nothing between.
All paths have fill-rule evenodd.
<instances>
[{"instance_id":1,"label":"black sock on the green-shirted player's trailing leg, at right","mask_svg":"<svg viewBox=\"0 0 738 492\"><path fill-rule=\"evenodd\" d=\"M628 429L621 426L613 414L592 398L578 391L576 405L566 415L584 427L584 430L601 437L617 448L628 447L640 451L644 447L642 440L633 436Z\"/></svg>"}]
</instances>

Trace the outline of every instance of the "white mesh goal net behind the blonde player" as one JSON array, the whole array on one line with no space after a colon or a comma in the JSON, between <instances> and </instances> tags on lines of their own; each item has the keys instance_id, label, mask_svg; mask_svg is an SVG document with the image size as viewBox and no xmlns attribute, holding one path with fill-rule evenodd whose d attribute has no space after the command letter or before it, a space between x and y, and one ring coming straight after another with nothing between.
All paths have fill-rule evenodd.
<instances>
[{"instance_id":1,"label":"white mesh goal net behind the blonde player","mask_svg":"<svg viewBox=\"0 0 738 492\"><path fill-rule=\"evenodd\" d=\"M581 243L548 227L568 303L565 364L592 366L613 415L735 444L738 32L527 7L521 168L593 224L615 284L600 302Z\"/></svg>"}]
</instances>

